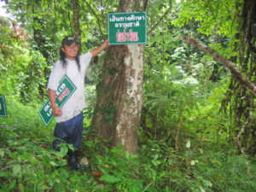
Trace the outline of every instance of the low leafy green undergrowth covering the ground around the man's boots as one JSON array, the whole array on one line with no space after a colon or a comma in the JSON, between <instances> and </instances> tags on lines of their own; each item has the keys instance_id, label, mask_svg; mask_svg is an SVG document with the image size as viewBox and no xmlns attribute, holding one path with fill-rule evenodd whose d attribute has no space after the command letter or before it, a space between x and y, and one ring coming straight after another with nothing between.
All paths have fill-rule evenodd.
<instances>
[{"instance_id":1,"label":"low leafy green undergrowth covering the ground around the man's boots","mask_svg":"<svg viewBox=\"0 0 256 192\"><path fill-rule=\"evenodd\" d=\"M80 158L90 168L72 171L68 146L59 153L50 148L54 124L44 127L37 106L14 100L7 107L9 117L0 119L0 191L256 191L255 160L230 143L188 140L177 154L165 139L148 138L132 155L84 135Z\"/></svg>"}]
</instances>

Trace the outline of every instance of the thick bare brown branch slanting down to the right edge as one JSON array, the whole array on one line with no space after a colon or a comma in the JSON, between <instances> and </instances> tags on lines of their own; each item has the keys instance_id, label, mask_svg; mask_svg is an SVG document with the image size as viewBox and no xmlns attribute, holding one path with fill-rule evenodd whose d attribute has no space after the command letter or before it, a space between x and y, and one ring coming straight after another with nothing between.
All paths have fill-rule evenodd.
<instances>
[{"instance_id":1,"label":"thick bare brown branch slanting down to the right edge","mask_svg":"<svg viewBox=\"0 0 256 192\"><path fill-rule=\"evenodd\" d=\"M227 58L225 58L222 55L219 55L215 50L207 47L205 44L201 44L194 38L189 38L186 36L181 37L185 42L197 47L198 49L201 49L207 54L212 55L212 58L214 61L218 61L221 64L224 65L224 67L227 67L230 69L230 72L234 75L234 77L248 90L250 90L255 96L256 96L256 85L253 84L253 82L250 81L246 76L244 76L235 66L235 64L231 61L229 61Z\"/></svg>"}]
</instances>

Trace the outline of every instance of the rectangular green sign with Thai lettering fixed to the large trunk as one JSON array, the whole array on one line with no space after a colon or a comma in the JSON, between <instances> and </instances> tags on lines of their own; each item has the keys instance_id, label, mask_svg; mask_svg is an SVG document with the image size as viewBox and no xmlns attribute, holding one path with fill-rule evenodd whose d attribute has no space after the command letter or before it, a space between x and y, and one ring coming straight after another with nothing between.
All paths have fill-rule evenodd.
<instances>
[{"instance_id":1,"label":"rectangular green sign with Thai lettering fixed to the large trunk","mask_svg":"<svg viewBox=\"0 0 256 192\"><path fill-rule=\"evenodd\" d=\"M108 14L109 44L146 44L147 13Z\"/></svg>"}]
</instances>

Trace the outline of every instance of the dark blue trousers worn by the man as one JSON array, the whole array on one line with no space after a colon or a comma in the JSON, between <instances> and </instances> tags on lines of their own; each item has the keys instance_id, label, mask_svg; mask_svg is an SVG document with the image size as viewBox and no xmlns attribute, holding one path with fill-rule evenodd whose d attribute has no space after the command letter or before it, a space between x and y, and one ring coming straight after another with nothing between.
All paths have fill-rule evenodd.
<instances>
[{"instance_id":1,"label":"dark blue trousers worn by the man","mask_svg":"<svg viewBox=\"0 0 256 192\"><path fill-rule=\"evenodd\" d=\"M79 113L77 116L73 117L73 119L57 123L54 133L56 139L52 143L52 148L56 151L60 151L58 144L63 142L61 140L64 140L66 143L73 144L74 148L79 149L82 141L83 122L83 113Z\"/></svg>"}]
</instances>

